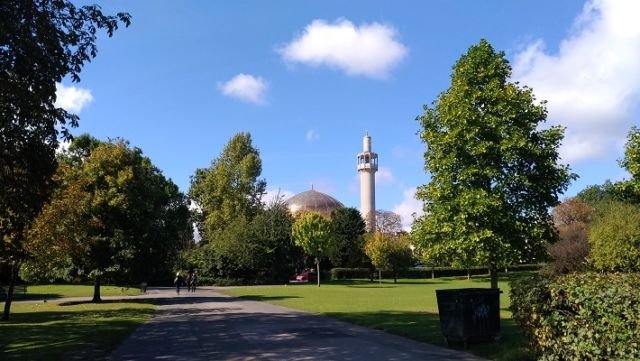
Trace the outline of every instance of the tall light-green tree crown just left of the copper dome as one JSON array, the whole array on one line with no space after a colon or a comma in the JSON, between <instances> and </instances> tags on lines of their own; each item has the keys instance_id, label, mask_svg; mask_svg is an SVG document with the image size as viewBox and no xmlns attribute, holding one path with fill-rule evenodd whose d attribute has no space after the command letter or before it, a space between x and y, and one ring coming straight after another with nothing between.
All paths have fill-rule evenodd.
<instances>
[{"instance_id":1,"label":"tall light-green tree crown just left of the copper dome","mask_svg":"<svg viewBox=\"0 0 640 361\"><path fill-rule=\"evenodd\" d=\"M237 218L251 221L262 209L266 182L260 152L251 134L234 135L209 168L197 169L191 178L189 196L200 207L196 219L202 239L209 242Z\"/></svg>"}]
</instances>

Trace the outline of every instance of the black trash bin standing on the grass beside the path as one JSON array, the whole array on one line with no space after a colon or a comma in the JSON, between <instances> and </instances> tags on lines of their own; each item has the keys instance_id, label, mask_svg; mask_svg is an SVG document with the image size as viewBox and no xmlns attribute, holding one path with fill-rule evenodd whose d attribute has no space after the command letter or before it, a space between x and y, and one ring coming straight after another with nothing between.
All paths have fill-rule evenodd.
<instances>
[{"instance_id":1,"label":"black trash bin standing on the grass beside the path","mask_svg":"<svg viewBox=\"0 0 640 361\"><path fill-rule=\"evenodd\" d=\"M436 290L440 328L447 345L462 341L497 340L500 336L500 290L460 288Z\"/></svg>"}]
</instances>

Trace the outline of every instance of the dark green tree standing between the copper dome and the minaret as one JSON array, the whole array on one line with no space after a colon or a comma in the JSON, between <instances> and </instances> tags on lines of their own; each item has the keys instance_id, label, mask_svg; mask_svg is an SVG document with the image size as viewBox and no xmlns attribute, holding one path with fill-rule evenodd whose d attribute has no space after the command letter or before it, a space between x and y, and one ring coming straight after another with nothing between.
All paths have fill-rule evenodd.
<instances>
[{"instance_id":1,"label":"dark green tree standing between the copper dome and the minaret","mask_svg":"<svg viewBox=\"0 0 640 361\"><path fill-rule=\"evenodd\" d=\"M366 224L355 208L339 208L331 213L331 230L336 252L331 262L339 267L362 267L368 258L364 254Z\"/></svg>"}]
</instances>

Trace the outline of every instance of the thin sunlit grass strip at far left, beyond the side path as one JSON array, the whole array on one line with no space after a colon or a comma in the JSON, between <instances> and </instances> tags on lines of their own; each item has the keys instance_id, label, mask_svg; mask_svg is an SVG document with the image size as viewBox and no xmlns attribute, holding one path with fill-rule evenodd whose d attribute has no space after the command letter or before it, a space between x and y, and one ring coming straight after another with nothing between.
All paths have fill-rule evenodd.
<instances>
[{"instance_id":1,"label":"thin sunlit grass strip at far left, beyond the side path","mask_svg":"<svg viewBox=\"0 0 640 361\"><path fill-rule=\"evenodd\" d=\"M142 292L139 288L118 287L118 286L101 286L101 296L135 296ZM63 297L92 297L93 285L29 285L27 293L22 292L14 294L15 301L22 300L52 300Z\"/></svg>"}]
</instances>

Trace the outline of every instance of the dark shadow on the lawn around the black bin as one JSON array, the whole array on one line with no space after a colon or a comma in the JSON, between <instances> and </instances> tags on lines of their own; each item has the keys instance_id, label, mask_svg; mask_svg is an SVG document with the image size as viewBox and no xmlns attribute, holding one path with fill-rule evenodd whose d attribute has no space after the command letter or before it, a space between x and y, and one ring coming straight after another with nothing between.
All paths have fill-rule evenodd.
<instances>
[{"instance_id":1,"label":"dark shadow on the lawn around the black bin","mask_svg":"<svg viewBox=\"0 0 640 361\"><path fill-rule=\"evenodd\" d=\"M329 312L325 313L340 320L357 325L382 330L391 334L408 337L417 341L447 347L440 330L438 314L410 311L379 312ZM464 350L463 345L452 343L452 349ZM535 360L526 347L526 340L513 320L501 320L501 339L496 342L473 342L465 350L492 360L516 361Z\"/></svg>"}]
</instances>

